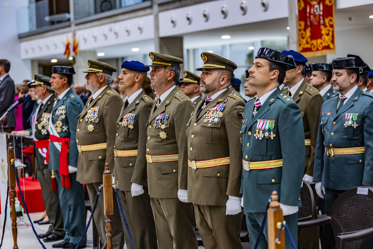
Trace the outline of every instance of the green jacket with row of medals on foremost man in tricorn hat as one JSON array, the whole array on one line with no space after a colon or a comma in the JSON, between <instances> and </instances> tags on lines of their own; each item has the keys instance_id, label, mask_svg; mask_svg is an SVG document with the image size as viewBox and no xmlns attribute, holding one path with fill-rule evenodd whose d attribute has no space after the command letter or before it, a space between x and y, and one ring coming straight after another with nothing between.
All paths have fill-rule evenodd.
<instances>
[{"instance_id":1,"label":"green jacket with row of medals on foremost man in tricorn hat","mask_svg":"<svg viewBox=\"0 0 373 249\"><path fill-rule=\"evenodd\" d=\"M289 96L276 88L253 118L255 100L251 99L245 105L241 128L242 156L249 162L282 159L283 166L249 171L242 169L244 210L266 212L273 190L277 191L280 203L300 207L305 158L301 111ZM275 121L273 139L256 139L257 119Z\"/></svg>"}]
</instances>

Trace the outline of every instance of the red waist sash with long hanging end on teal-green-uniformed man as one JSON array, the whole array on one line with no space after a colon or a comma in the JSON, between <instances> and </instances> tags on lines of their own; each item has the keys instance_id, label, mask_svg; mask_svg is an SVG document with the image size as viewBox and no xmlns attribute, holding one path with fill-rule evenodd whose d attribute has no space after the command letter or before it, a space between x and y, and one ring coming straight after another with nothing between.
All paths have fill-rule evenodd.
<instances>
[{"instance_id":1,"label":"red waist sash with long hanging end on teal-green-uniformed man","mask_svg":"<svg viewBox=\"0 0 373 249\"><path fill-rule=\"evenodd\" d=\"M69 146L70 146L70 137L56 137L49 135L49 141L61 143L61 152L60 152L60 167L58 173L62 177L62 187L69 189L70 184L70 175L69 175Z\"/></svg>"}]
</instances>

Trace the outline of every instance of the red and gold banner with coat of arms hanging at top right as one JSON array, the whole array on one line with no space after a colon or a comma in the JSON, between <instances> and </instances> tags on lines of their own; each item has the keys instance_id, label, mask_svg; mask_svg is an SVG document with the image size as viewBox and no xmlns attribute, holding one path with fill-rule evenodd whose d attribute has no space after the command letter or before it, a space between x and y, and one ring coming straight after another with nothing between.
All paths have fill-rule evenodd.
<instances>
[{"instance_id":1,"label":"red and gold banner with coat of arms hanging at top right","mask_svg":"<svg viewBox=\"0 0 373 249\"><path fill-rule=\"evenodd\" d=\"M335 54L334 0L298 1L298 49L304 56Z\"/></svg>"}]
</instances>

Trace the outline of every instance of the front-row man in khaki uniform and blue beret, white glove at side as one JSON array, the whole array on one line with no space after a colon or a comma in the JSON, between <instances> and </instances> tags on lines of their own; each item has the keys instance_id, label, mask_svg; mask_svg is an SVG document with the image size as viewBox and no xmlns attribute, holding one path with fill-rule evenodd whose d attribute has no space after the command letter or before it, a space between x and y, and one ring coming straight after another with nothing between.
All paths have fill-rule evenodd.
<instances>
[{"instance_id":1,"label":"front-row man in khaki uniform and blue beret, white glove at side","mask_svg":"<svg viewBox=\"0 0 373 249\"><path fill-rule=\"evenodd\" d=\"M128 98L117 120L114 146L114 175L135 248L157 249L157 234L151 211L146 172L146 123L154 101L142 90L148 67L125 61L119 75ZM123 219L122 219L123 221ZM122 222L123 231L125 224ZM127 248L132 248L128 234Z\"/></svg>"}]
</instances>

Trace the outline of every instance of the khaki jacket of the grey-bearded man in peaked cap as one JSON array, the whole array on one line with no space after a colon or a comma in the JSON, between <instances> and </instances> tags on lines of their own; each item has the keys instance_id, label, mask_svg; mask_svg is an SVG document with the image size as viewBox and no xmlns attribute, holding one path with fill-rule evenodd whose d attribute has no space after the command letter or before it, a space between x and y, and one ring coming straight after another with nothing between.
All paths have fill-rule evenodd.
<instances>
[{"instance_id":1,"label":"khaki jacket of the grey-bearded man in peaked cap","mask_svg":"<svg viewBox=\"0 0 373 249\"><path fill-rule=\"evenodd\" d=\"M102 182L105 163L109 164L110 171L113 172L116 121L122 105L119 94L107 85L99 96L86 103L78 116L76 129L78 145L106 143L106 149L79 152L76 180L80 183ZM98 107L98 122L85 121L88 110L95 107ZM88 128L91 125L94 126L92 131Z\"/></svg>"}]
</instances>

